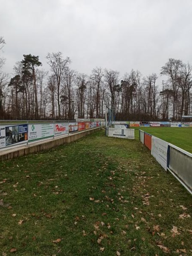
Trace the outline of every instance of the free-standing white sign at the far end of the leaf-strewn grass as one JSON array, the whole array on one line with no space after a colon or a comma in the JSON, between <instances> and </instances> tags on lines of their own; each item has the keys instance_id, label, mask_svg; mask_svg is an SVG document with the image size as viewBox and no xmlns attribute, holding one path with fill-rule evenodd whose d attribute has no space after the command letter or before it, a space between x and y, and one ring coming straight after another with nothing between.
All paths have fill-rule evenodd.
<instances>
[{"instance_id":1,"label":"free-standing white sign at the far end of the leaf-strewn grass","mask_svg":"<svg viewBox=\"0 0 192 256\"><path fill-rule=\"evenodd\" d=\"M134 139L135 130L134 129L121 129L121 128L109 128L109 137L118 137L125 139Z\"/></svg>"}]
</instances>

